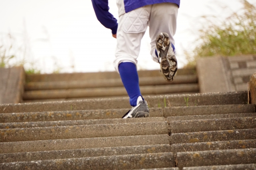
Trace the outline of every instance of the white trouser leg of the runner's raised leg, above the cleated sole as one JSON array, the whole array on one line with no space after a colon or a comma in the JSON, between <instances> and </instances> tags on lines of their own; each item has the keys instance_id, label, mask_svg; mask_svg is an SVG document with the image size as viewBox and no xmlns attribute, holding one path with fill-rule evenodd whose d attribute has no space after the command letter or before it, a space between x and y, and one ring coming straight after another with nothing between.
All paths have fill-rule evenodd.
<instances>
[{"instance_id":1,"label":"white trouser leg of the runner's raised leg, above the cleated sole","mask_svg":"<svg viewBox=\"0 0 256 170\"><path fill-rule=\"evenodd\" d=\"M170 36L170 41L174 45L174 34L176 32L176 20L178 15L178 5L173 3L161 3L152 5L149 18L149 36L151 38L152 59L158 62L155 55L156 36L165 32Z\"/></svg>"}]
</instances>

